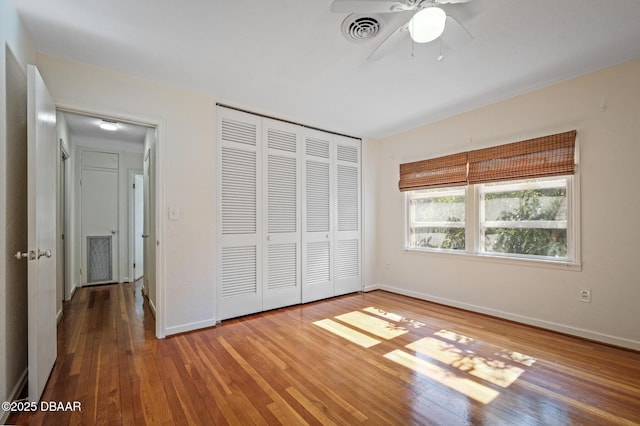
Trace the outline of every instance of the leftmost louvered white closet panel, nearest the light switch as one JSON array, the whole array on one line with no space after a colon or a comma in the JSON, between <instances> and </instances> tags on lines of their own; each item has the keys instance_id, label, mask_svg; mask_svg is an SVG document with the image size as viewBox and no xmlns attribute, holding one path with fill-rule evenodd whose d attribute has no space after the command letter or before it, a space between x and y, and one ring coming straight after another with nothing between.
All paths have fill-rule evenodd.
<instances>
[{"instance_id":1,"label":"leftmost louvered white closet panel, nearest the light switch","mask_svg":"<svg viewBox=\"0 0 640 426\"><path fill-rule=\"evenodd\" d=\"M254 115L217 112L217 317L222 320L262 310L262 128Z\"/></svg>"}]
</instances>

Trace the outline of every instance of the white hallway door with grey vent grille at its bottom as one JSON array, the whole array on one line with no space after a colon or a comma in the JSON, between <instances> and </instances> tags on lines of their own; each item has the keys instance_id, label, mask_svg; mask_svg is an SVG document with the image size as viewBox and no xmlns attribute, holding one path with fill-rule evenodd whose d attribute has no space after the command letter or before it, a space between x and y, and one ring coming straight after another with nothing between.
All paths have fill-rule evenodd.
<instances>
[{"instance_id":1,"label":"white hallway door with grey vent grille at its bottom","mask_svg":"<svg viewBox=\"0 0 640 426\"><path fill-rule=\"evenodd\" d=\"M118 281L118 172L83 169L80 182L82 282Z\"/></svg>"}]
</instances>

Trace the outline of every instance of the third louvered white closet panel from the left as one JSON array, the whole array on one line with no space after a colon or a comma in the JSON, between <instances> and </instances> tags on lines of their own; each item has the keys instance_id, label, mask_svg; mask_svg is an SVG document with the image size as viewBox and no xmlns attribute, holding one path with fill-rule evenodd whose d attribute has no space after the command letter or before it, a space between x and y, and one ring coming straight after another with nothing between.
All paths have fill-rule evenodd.
<instances>
[{"instance_id":1,"label":"third louvered white closet panel from the left","mask_svg":"<svg viewBox=\"0 0 640 426\"><path fill-rule=\"evenodd\" d=\"M302 301L334 295L333 281L333 136L304 134L302 159Z\"/></svg>"}]
</instances>

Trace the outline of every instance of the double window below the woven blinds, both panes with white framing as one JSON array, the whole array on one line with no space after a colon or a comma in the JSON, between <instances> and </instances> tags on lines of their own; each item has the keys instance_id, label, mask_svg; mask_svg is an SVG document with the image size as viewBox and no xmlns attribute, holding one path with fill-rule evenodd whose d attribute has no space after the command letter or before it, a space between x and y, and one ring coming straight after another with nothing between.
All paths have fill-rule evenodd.
<instances>
[{"instance_id":1,"label":"double window below the woven blinds, both panes with white framing","mask_svg":"<svg viewBox=\"0 0 640 426\"><path fill-rule=\"evenodd\" d=\"M407 248L574 262L572 184L559 176L408 191Z\"/></svg>"}]
</instances>

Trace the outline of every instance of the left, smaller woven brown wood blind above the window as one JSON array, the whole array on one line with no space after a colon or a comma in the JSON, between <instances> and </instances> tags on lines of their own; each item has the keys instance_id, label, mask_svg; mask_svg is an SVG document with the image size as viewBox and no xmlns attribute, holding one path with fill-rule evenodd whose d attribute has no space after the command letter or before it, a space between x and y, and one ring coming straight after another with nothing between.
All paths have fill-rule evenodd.
<instances>
[{"instance_id":1,"label":"left, smaller woven brown wood blind above the window","mask_svg":"<svg viewBox=\"0 0 640 426\"><path fill-rule=\"evenodd\" d=\"M466 185L467 153L400 164L400 191Z\"/></svg>"}]
</instances>

